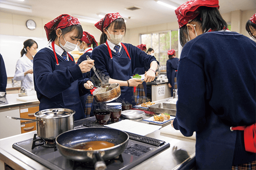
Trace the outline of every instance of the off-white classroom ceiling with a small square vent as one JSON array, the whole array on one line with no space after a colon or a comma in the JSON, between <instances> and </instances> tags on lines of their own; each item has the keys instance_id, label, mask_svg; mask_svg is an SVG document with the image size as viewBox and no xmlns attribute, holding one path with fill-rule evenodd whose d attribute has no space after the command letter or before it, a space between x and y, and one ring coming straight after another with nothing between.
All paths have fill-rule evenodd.
<instances>
[{"instance_id":1,"label":"off-white classroom ceiling with a small square vent","mask_svg":"<svg viewBox=\"0 0 256 170\"><path fill-rule=\"evenodd\" d=\"M174 9L162 6L156 0L0 0L0 2L11 2L21 5L29 5L32 12L15 11L0 8L0 11L15 13L33 17L41 17L53 20L61 14L81 15L90 17L95 23L101 18L98 13L119 12L122 17L130 18L126 22L127 28L137 28L161 23L175 22ZM185 3L186 0L162 0L176 7ZM256 8L256 0L219 0L221 14L236 10L250 10ZM139 7L131 11L125 8ZM93 23L81 22L83 25L94 25Z\"/></svg>"}]
</instances>

